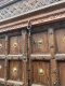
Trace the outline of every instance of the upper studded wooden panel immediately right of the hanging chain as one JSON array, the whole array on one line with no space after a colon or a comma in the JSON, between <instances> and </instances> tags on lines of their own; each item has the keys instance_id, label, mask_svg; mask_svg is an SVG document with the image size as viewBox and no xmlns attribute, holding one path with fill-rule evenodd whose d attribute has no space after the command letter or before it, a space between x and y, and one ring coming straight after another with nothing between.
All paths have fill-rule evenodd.
<instances>
[{"instance_id":1,"label":"upper studded wooden panel immediately right of the hanging chain","mask_svg":"<svg viewBox=\"0 0 65 86\"><path fill-rule=\"evenodd\" d=\"M48 33L41 32L32 34L32 53L48 53Z\"/></svg>"}]
</instances>

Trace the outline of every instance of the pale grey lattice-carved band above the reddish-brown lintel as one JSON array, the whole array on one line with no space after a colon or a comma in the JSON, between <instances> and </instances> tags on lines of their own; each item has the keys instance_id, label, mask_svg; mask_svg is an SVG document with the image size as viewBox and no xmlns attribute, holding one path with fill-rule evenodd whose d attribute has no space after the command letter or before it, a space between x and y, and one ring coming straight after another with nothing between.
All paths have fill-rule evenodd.
<instances>
[{"instance_id":1,"label":"pale grey lattice-carved band above the reddish-brown lintel","mask_svg":"<svg viewBox=\"0 0 65 86\"><path fill-rule=\"evenodd\" d=\"M6 19L20 14L24 14L35 9L54 3L61 0L21 0L14 4L8 5L0 10L0 20Z\"/></svg>"}]
</instances>

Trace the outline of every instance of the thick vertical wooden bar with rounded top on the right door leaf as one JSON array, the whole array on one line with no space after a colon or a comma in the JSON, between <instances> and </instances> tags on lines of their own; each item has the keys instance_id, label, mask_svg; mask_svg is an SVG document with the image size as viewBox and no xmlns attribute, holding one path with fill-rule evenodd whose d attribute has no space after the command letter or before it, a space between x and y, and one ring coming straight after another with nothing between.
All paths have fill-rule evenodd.
<instances>
[{"instance_id":1,"label":"thick vertical wooden bar with rounded top on the right door leaf","mask_svg":"<svg viewBox=\"0 0 65 86\"><path fill-rule=\"evenodd\" d=\"M51 53L51 86L58 86L57 64L55 60L55 38L54 30L49 28L49 47Z\"/></svg>"}]
</instances>

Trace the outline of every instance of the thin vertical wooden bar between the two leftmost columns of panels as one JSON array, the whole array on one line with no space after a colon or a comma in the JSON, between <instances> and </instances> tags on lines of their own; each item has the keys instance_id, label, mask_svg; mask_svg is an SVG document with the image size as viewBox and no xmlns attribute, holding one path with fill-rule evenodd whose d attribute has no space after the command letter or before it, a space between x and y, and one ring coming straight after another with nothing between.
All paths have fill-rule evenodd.
<instances>
[{"instance_id":1,"label":"thin vertical wooden bar between the two leftmost columns of panels","mask_svg":"<svg viewBox=\"0 0 65 86\"><path fill-rule=\"evenodd\" d=\"M6 55L9 51L8 47L9 47L9 39L8 39L8 35L5 35L4 86L6 86L6 80L8 80L8 59L6 59Z\"/></svg>"}]
</instances>

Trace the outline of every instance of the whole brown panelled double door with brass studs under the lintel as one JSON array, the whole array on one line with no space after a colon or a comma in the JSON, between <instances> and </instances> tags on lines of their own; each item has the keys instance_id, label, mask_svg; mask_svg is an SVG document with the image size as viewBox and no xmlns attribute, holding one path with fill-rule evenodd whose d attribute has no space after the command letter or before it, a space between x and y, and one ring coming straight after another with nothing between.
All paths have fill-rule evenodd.
<instances>
[{"instance_id":1,"label":"whole brown panelled double door with brass studs under the lintel","mask_svg":"<svg viewBox=\"0 0 65 86\"><path fill-rule=\"evenodd\" d=\"M0 35L1 86L65 86L65 29L37 28Z\"/></svg>"}]
</instances>

